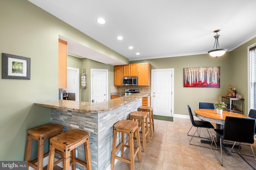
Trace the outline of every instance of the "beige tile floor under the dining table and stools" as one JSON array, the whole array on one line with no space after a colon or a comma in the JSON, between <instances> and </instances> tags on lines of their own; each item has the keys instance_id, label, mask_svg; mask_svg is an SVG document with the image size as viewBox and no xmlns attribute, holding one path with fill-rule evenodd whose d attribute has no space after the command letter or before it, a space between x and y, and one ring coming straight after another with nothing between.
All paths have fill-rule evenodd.
<instances>
[{"instance_id":1,"label":"beige tile floor under the dining table and stools","mask_svg":"<svg viewBox=\"0 0 256 170\"><path fill-rule=\"evenodd\" d=\"M173 122L154 120L155 131L146 143L146 152L142 151L142 162L135 158L136 170L253 170L238 154L231 153L227 156L223 153L224 165L221 166L209 148L193 146L189 144L191 136L187 135L192 126L190 119L174 118ZM190 131L195 132L196 128ZM201 130L206 136L206 130ZM214 134L214 131L212 131ZM192 143L201 144L200 138L193 138ZM142 144L142 142L141 142ZM204 146L210 146L204 144ZM256 152L256 144L253 144ZM240 152L249 152L248 146L242 146ZM231 151L231 148L228 148ZM237 151L237 149L235 149ZM216 150L220 156L220 149ZM129 158L129 149L126 149L124 157ZM250 162L256 161L248 157ZM115 170L130 170L130 165L121 161L115 164Z\"/></svg>"}]
</instances>

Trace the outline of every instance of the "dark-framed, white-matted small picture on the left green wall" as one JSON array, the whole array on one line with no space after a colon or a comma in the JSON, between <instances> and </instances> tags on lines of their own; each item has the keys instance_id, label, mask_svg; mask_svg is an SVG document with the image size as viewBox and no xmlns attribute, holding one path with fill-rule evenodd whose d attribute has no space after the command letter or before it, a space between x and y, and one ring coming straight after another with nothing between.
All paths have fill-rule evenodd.
<instances>
[{"instance_id":1,"label":"dark-framed, white-matted small picture on the left green wall","mask_svg":"<svg viewBox=\"0 0 256 170\"><path fill-rule=\"evenodd\" d=\"M2 53L2 79L30 80L30 58Z\"/></svg>"}]
</instances>

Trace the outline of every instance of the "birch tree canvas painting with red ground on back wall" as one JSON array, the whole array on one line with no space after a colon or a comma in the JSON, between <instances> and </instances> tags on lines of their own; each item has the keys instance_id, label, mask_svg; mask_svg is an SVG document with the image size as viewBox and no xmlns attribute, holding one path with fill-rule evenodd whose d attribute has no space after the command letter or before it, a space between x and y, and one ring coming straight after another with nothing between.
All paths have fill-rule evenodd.
<instances>
[{"instance_id":1,"label":"birch tree canvas painting with red ground on back wall","mask_svg":"<svg viewBox=\"0 0 256 170\"><path fill-rule=\"evenodd\" d=\"M220 67L184 68L184 87L220 87Z\"/></svg>"}]
</instances>

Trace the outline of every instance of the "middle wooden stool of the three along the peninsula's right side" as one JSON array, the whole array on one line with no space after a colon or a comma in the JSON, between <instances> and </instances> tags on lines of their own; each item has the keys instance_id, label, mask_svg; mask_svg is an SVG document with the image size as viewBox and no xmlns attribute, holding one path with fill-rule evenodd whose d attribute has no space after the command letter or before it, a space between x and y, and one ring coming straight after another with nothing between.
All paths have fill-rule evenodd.
<instances>
[{"instance_id":1,"label":"middle wooden stool of the three along the peninsula's right side","mask_svg":"<svg viewBox=\"0 0 256 170\"><path fill-rule=\"evenodd\" d=\"M141 127L142 131L140 131L142 133L142 139L140 138L140 134L137 134L137 138L139 137L140 140L142 140L143 142L143 151L146 152L146 137L148 142L150 142L149 140L149 134L148 134L148 112L140 112L140 111L134 111L132 113L130 113L130 120L136 121L138 120L139 122L139 126ZM146 127L146 129L145 129Z\"/></svg>"}]
</instances>

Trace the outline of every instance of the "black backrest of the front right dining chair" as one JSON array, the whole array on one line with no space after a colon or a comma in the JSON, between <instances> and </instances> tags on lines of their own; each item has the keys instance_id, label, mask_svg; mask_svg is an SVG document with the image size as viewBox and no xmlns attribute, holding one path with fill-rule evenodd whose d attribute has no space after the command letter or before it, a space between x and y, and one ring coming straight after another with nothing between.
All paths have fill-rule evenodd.
<instances>
[{"instance_id":1,"label":"black backrest of the front right dining chair","mask_svg":"<svg viewBox=\"0 0 256 170\"><path fill-rule=\"evenodd\" d=\"M255 119L226 117L223 140L254 143Z\"/></svg>"}]
</instances>

